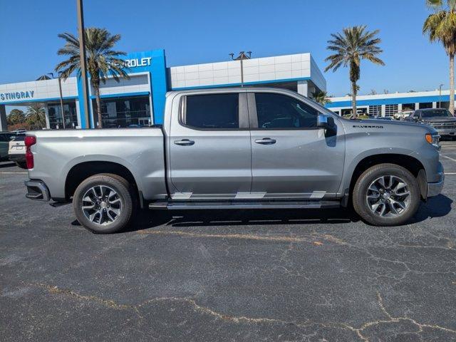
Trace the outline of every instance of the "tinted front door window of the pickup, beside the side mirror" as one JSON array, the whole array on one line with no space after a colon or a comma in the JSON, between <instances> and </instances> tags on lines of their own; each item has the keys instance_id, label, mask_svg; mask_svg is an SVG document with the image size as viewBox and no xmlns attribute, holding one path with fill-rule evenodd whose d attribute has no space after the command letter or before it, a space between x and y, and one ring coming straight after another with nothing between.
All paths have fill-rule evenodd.
<instances>
[{"instance_id":1,"label":"tinted front door window of the pickup, beside the side mirror","mask_svg":"<svg viewBox=\"0 0 456 342\"><path fill-rule=\"evenodd\" d=\"M314 128L318 110L290 96L256 93L258 128Z\"/></svg>"}]
</instances>

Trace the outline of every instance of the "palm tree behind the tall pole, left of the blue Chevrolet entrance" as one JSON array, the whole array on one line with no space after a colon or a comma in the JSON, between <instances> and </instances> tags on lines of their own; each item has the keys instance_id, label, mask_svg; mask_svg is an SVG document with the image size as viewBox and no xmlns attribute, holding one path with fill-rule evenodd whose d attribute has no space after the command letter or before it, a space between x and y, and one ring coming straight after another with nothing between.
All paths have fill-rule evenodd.
<instances>
[{"instance_id":1,"label":"palm tree behind the tall pole, left of the blue Chevrolet entrance","mask_svg":"<svg viewBox=\"0 0 456 342\"><path fill-rule=\"evenodd\" d=\"M86 56L87 69L90 75L90 84L95 92L98 114L98 128L103 127L101 118L100 82L105 83L108 76L113 76L119 82L120 77L129 78L125 69L125 62L118 58L125 56L125 52L115 51L113 47L120 40L120 34L111 35L105 28L86 28ZM66 80L68 76L77 71L81 77L81 65L79 58L79 41L71 33L58 35L66 43L57 51L58 55L69 56L66 61L58 63L56 71L61 72L61 78Z\"/></svg>"}]
</instances>

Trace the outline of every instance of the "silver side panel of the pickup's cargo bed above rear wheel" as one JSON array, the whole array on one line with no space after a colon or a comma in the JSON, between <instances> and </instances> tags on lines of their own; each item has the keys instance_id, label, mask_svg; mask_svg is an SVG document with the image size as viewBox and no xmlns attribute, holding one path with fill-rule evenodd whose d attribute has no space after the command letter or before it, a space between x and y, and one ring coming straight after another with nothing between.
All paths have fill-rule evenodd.
<instances>
[{"instance_id":1,"label":"silver side panel of the pickup's cargo bed above rear wheel","mask_svg":"<svg viewBox=\"0 0 456 342\"><path fill-rule=\"evenodd\" d=\"M31 147L31 180L43 180L53 199L65 199L68 172L81 163L105 162L126 167L144 199L165 199L165 153L161 128L40 130ZM89 167L89 165L88 165Z\"/></svg>"}]
</instances>

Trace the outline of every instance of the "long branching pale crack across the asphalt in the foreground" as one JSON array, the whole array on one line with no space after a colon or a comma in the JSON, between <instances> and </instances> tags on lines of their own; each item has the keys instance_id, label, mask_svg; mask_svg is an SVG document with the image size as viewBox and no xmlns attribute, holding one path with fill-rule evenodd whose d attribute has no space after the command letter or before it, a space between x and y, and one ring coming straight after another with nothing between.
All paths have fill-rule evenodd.
<instances>
[{"instance_id":1,"label":"long branching pale crack across the asphalt in the foreground","mask_svg":"<svg viewBox=\"0 0 456 342\"><path fill-rule=\"evenodd\" d=\"M103 299L98 296L87 296L87 295L78 294L76 291L73 291L71 289L61 289L61 288L58 288L57 286L51 286L48 284L31 283L29 285L37 286L41 289L44 289L49 294L60 294L60 295L64 295L64 296L71 296L75 299L80 299L83 301L90 301L95 304L100 304L100 305L106 306L110 309L133 310L136 312L136 314L138 314L138 316L140 318L142 318L142 316L140 315L140 308L142 306L145 306L145 305L153 303L153 302L159 302L159 301L177 301L177 302L190 304L190 306L192 306L192 309L194 311L197 311L202 314L207 314L214 318L218 318L222 321L229 321L232 323L285 324L285 325L294 325L298 328L308 328L309 326L323 326L326 328L339 328L339 329L343 329L346 331L353 331L353 333L356 333L356 335L361 339L361 341L364 341L364 342L370 341L369 338L363 334L363 332L367 328L370 328L371 326L376 326L376 325L382 324L382 323L399 323L400 321L408 321L410 323L413 323L415 326L418 327L418 333L423 332L423 328L430 328L430 329L445 331L447 333L456 334L456 330L451 329L451 328L446 328L444 326L439 326L437 324L419 323L415 319L407 317L407 316L398 316L398 317L393 316L385 308L385 305L383 304L383 298L382 298L382 296L380 296L380 292L377 292L377 304L378 304L378 307L380 308L380 311L382 311L382 313L386 316L387 319L368 321L366 323L361 324L361 326L359 328L356 328L347 323L341 323L341 322L326 322L325 323L325 322L316 322L316 321L303 321L303 322L299 323L296 321L285 321L285 320L279 319L279 318L264 318L264 317L254 318L254 317L247 317L247 316L231 316L231 315L227 315L227 314L221 314L206 306L201 306L201 305L197 304L195 299L191 299L191 298L187 298L187 297L157 297L157 298L148 299L147 301L142 301L140 304L128 305L128 304L118 304L118 302L113 301L112 299Z\"/></svg>"}]
</instances>

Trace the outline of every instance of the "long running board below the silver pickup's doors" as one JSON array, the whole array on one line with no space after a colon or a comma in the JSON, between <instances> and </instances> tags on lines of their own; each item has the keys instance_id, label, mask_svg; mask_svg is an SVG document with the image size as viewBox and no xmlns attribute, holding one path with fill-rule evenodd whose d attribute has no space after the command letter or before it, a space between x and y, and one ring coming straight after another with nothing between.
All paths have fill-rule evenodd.
<instances>
[{"instance_id":1,"label":"long running board below the silver pickup's doors","mask_svg":"<svg viewBox=\"0 0 456 342\"><path fill-rule=\"evenodd\" d=\"M149 209L320 209L341 207L340 201L226 201L226 202L153 202Z\"/></svg>"}]
</instances>

